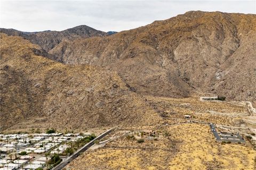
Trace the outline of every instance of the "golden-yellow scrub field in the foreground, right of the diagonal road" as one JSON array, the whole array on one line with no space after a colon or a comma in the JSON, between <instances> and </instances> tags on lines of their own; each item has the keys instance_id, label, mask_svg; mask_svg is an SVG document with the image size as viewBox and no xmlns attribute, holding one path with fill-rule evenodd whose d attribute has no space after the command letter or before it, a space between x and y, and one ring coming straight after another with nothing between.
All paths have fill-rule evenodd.
<instances>
[{"instance_id":1,"label":"golden-yellow scrub field in the foreground, right of the diagonal road","mask_svg":"<svg viewBox=\"0 0 256 170\"><path fill-rule=\"evenodd\" d=\"M253 169L256 152L247 144L221 145L203 124L142 127L162 132L144 142L127 137L78 157L67 169ZM140 129L141 130L141 129ZM136 135L135 135L136 137ZM138 137L137 137L138 138Z\"/></svg>"}]
</instances>

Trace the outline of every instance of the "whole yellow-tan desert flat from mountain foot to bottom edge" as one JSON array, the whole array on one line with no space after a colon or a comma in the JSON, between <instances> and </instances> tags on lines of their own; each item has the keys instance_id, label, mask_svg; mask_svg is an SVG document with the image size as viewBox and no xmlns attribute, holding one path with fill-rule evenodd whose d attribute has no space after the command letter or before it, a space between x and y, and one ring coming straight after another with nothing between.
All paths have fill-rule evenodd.
<instances>
[{"instance_id":1,"label":"whole yellow-tan desert flat from mountain foot to bottom edge","mask_svg":"<svg viewBox=\"0 0 256 170\"><path fill-rule=\"evenodd\" d=\"M146 96L146 99L164 124L119 130L130 133L103 148L86 152L67 169L255 169L256 151L251 142L221 145L215 141L209 125L203 123L246 127L249 124L243 119L250 116L245 105L202 102L198 98ZM187 120L184 115L191 115L191 118ZM189 123L191 120L202 123ZM245 128L232 130L244 136L250 133ZM148 137L141 132L156 135ZM143 141L139 142L141 138Z\"/></svg>"}]
</instances>

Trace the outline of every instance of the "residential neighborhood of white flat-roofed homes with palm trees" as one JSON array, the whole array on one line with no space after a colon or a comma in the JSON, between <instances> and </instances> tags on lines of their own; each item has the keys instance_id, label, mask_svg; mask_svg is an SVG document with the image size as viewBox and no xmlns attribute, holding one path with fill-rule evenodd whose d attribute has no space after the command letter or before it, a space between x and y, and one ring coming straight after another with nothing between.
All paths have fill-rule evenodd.
<instances>
[{"instance_id":1,"label":"residential neighborhood of white flat-roofed homes with palm trees","mask_svg":"<svg viewBox=\"0 0 256 170\"><path fill-rule=\"evenodd\" d=\"M52 168L94 138L88 132L0 134L0 170Z\"/></svg>"}]
</instances>

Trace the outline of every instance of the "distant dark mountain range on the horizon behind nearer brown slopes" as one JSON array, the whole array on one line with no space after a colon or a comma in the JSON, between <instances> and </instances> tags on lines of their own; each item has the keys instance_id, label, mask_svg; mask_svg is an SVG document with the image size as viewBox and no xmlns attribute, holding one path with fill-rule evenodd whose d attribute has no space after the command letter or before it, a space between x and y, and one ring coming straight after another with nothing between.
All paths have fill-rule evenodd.
<instances>
[{"instance_id":1,"label":"distant dark mountain range on the horizon behind nearer brown slopes","mask_svg":"<svg viewBox=\"0 0 256 170\"><path fill-rule=\"evenodd\" d=\"M79 25L63 31L41 31L22 32L14 29L1 28L0 32L9 36L21 36L31 41L31 43L41 46L46 52L58 45L62 40L75 40L78 38L89 38L94 36L107 36L103 31L95 30L86 25Z\"/></svg>"}]
</instances>

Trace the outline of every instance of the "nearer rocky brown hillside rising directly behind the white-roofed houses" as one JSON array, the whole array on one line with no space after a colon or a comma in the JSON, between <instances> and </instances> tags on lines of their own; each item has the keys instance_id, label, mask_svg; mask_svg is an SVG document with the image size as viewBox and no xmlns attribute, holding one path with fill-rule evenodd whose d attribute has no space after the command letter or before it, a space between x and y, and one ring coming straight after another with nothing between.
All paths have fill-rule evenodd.
<instances>
[{"instance_id":1,"label":"nearer rocky brown hillside rising directly behind the white-roofed houses","mask_svg":"<svg viewBox=\"0 0 256 170\"><path fill-rule=\"evenodd\" d=\"M154 124L158 115L115 72L65 65L1 33L0 128L93 128Z\"/></svg>"}]
</instances>

